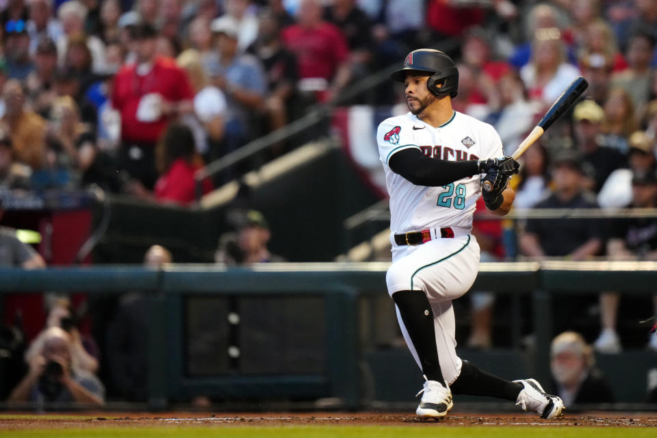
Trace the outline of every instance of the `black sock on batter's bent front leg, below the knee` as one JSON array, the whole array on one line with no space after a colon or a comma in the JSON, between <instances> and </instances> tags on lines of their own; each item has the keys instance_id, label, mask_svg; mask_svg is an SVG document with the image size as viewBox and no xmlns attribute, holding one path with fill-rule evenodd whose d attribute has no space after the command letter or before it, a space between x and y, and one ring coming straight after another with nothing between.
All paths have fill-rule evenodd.
<instances>
[{"instance_id":1,"label":"black sock on batter's bent front leg, below the knee","mask_svg":"<svg viewBox=\"0 0 657 438\"><path fill-rule=\"evenodd\" d=\"M421 290L404 290L392 294L413 347L420 357L422 372L428 380L445 385L438 361L433 311Z\"/></svg>"}]
</instances>

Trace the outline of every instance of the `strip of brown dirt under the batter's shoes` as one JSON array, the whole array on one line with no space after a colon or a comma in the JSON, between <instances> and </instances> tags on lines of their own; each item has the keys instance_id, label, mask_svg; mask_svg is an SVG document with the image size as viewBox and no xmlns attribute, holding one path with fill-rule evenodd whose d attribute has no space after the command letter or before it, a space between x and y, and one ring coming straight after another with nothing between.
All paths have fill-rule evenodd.
<instances>
[{"instance_id":1,"label":"strip of brown dirt under the batter's shoes","mask_svg":"<svg viewBox=\"0 0 657 438\"><path fill-rule=\"evenodd\" d=\"M542 420L535 415L472 415L453 413L443 420L421 421L401 413L94 413L10 414L0 416L0 430L52 428L123 428L158 426L280 426L280 425L383 425L423 426L622 426L657 427L657 414L591 413Z\"/></svg>"}]
</instances>

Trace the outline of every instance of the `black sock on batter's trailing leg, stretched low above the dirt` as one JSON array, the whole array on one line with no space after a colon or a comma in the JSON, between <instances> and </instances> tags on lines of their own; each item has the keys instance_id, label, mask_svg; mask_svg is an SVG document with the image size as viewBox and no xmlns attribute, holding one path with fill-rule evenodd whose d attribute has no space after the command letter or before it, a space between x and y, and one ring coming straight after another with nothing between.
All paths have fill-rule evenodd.
<instances>
[{"instance_id":1,"label":"black sock on batter's trailing leg, stretched low above the dirt","mask_svg":"<svg viewBox=\"0 0 657 438\"><path fill-rule=\"evenodd\" d=\"M515 402L524 386L521 383L506 381L501 377L493 376L479 370L468 361L463 361L461 374L452 383L452 394L466 394L468 396L489 396L505 398Z\"/></svg>"}]
</instances>

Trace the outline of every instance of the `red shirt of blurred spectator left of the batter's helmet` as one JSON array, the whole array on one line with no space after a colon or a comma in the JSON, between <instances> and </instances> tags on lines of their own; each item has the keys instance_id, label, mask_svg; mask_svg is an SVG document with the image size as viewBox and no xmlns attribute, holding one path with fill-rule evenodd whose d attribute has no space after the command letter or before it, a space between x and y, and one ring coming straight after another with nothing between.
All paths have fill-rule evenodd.
<instances>
[{"instance_id":1,"label":"red shirt of blurred spectator left of the batter's helmet","mask_svg":"<svg viewBox=\"0 0 657 438\"><path fill-rule=\"evenodd\" d=\"M283 29L283 43L296 53L299 77L323 77L331 80L337 66L349 57L347 41L340 29L331 23L318 23L307 28L292 25Z\"/></svg>"}]
</instances>

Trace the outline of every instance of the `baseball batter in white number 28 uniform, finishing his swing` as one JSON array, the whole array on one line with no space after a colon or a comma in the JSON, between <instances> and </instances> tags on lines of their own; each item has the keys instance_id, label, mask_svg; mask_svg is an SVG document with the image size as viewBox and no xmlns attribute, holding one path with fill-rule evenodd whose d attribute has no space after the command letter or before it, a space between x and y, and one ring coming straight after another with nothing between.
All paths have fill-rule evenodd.
<instances>
[{"instance_id":1,"label":"baseball batter in white number 28 uniform, finishing his swing","mask_svg":"<svg viewBox=\"0 0 657 438\"><path fill-rule=\"evenodd\" d=\"M515 195L506 181L518 163L504 157L491 125L452 110L459 70L445 53L412 51L391 79L406 86L411 111L384 120L376 133L390 196L386 282L425 378L417 415L445 416L452 392L506 398L543 418L561 415L561 398L545 394L534 379L506 381L455 351L452 300L472 286L479 264L471 233L475 203L482 194L493 214L507 214Z\"/></svg>"}]
</instances>

